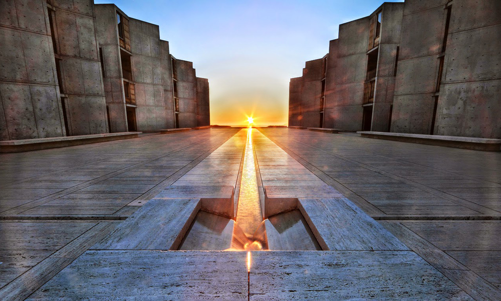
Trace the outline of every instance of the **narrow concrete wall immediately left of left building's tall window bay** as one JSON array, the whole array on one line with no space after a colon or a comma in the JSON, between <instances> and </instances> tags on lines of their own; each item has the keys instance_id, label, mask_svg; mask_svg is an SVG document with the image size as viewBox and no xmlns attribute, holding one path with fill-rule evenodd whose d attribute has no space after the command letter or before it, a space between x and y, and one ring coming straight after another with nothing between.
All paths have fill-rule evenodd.
<instances>
[{"instance_id":1,"label":"narrow concrete wall immediately left of left building's tall window bay","mask_svg":"<svg viewBox=\"0 0 501 301\"><path fill-rule=\"evenodd\" d=\"M103 82L109 111L109 130L110 132L126 132L127 119L118 44L117 10L118 8L112 4L95 5L96 37L103 56ZM118 11L126 17L123 12Z\"/></svg>"}]
</instances>

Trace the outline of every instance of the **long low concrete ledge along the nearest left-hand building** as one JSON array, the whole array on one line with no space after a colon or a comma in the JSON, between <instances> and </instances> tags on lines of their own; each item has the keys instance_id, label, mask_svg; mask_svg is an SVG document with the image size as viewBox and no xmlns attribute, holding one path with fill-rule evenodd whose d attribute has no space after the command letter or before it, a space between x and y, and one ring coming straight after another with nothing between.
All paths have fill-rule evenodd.
<instances>
[{"instance_id":1,"label":"long low concrete ledge along the nearest left-hand building","mask_svg":"<svg viewBox=\"0 0 501 301\"><path fill-rule=\"evenodd\" d=\"M104 133L93 135L51 137L0 141L0 153L19 153L29 150L74 146L112 140L137 138L141 132Z\"/></svg>"}]
</instances>

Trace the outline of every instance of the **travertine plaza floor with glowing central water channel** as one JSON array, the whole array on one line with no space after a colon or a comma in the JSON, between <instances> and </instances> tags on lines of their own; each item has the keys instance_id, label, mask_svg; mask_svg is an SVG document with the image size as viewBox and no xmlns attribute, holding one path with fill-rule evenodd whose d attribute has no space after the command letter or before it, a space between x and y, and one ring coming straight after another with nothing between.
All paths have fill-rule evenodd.
<instances>
[{"instance_id":1,"label":"travertine plaza floor with glowing central water channel","mask_svg":"<svg viewBox=\"0 0 501 301\"><path fill-rule=\"evenodd\" d=\"M501 300L500 219L501 153L354 133L2 154L0 300Z\"/></svg>"}]
</instances>

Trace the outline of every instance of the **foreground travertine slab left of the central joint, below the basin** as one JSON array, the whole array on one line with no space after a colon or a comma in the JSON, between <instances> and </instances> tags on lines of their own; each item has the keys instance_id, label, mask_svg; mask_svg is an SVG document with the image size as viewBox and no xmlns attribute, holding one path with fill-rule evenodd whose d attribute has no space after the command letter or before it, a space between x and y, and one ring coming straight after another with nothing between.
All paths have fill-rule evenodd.
<instances>
[{"instance_id":1,"label":"foreground travertine slab left of the central joint, below the basin","mask_svg":"<svg viewBox=\"0 0 501 301\"><path fill-rule=\"evenodd\" d=\"M245 252L87 251L27 300L243 301L245 257Z\"/></svg>"}]
</instances>

